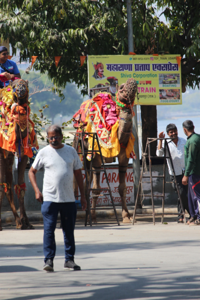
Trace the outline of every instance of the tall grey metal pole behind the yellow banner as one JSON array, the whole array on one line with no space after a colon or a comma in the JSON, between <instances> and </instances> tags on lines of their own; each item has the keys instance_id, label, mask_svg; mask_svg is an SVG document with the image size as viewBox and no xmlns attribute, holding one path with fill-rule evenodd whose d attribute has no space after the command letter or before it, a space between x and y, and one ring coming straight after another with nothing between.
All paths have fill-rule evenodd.
<instances>
[{"instance_id":1,"label":"tall grey metal pole behind the yellow banner","mask_svg":"<svg viewBox=\"0 0 200 300\"><path fill-rule=\"evenodd\" d=\"M133 44L133 31L132 31L132 0L126 0L127 7L127 33L128 33L128 52L134 52L134 44ZM134 142L134 152L136 154L136 159L132 159L132 168L133 168L133 186L134 186L134 202L137 196L137 189L139 186L139 177L140 177L140 163L139 163L139 143L137 136L137 108L136 105L133 106L134 111L134 122L132 123L132 131L135 137ZM138 208L141 208L141 204L137 204Z\"/></svg>"}]
</instances>

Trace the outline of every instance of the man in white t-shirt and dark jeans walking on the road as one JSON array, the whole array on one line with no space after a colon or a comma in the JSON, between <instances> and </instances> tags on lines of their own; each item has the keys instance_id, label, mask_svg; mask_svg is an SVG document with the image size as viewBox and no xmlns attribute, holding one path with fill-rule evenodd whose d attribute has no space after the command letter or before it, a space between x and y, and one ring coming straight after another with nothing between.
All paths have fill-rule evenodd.
<instances>
[{"instance_id":1,"label":"man in white t-shirt and dark jeans walking on the road","mask_svg":"<svg viewBox=\"0 0 200 300\"><path fill-rule=\"evenodd\" d=\"M71 146L62 143L62 131L57 125L51 125L46 130L49 145L42 148L29 170L29 179L35 191L35 198L41 202L43 215L43 270L53 271L55 256L55 226L58 212L64 235L65 270L80 270L74 263L75 241L74 226L76 218L76 204L73 194L73 174L80 190L82 210L87 207L84 198L84 185L81 173L82 163ZM36 172L44 168L42 193L36 183Z\"/></svg>"}]
</instances>

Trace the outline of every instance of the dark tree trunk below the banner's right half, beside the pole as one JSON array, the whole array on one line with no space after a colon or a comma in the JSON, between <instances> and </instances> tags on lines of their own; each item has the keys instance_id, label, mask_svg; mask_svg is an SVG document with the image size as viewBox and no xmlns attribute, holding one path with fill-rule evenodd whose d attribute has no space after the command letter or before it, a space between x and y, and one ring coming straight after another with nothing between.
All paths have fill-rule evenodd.
<instances>
[{"instance_id":1,"label":"dark tree trunk below the banner's right half, beside the pole","mask_svg":"<svg viewBox=\"0 0 200 300\"><path fill-rule=\"evenodd\" d=\"M145 151L147 137L157 137L157 109L156 105L140 105L140 108L142 147ZM156 146L157 143L153 141L150 145L151 155L156 155Z\"/></svg>"}]
</instances>

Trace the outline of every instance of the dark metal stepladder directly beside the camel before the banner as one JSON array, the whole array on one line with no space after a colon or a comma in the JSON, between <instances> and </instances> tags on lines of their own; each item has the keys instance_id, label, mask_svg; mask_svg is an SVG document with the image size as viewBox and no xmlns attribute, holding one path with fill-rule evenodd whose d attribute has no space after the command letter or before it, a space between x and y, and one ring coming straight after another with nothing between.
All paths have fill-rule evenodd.
<instances>
[{"instance_id":1,"label":"dark metal stepladder directly beside the camel before the banner","mask_svg":"<svg viewBox=\"0 0 200 300\"><path fill-rule=\"evenodd\" d=\"M103 162L103 157L102 157L102 153L101 153L101 149L100 149L100 144L99 144L97 133L96 132L69 132L69 133L73 134L76 137L77 142L76 142L75 150L76 150L76 152L77 152L78 155L82 154L82 156L83 156L83 162L84 162L85 182L86 182L86 200L87 200L87 209L86 209L86 214L85 214L85 223L84 223L84 225L85 226L87 225L88 215L89 215L89 225L90 226L92 225L92 222L91 222L91 209L93 209L93 210L98 210L98 209L113 209L115 217L116 217L116 222L117 222L118 225L120 225L119 220L118 220L118 216L117 216L117 213L116 213L116 208L114 206L114 201L113 201L113 198L112 198L111 189L110 189L110 186L109 186L109 181L108 181L108 178L107 178L107 173L106 173L105 165L104 165L104 162ZM83 144L84 136L91 136L92 137L92 147L91 147L91 150L87 149L85 151L84 144ZM95 139L97 141L98 150L94 150L94 141L95 141ZM81 144L82 152L78 151L78 143ZM98 152L100 154L101 164L102 164L102 168L103 169L98 169L98 170L95 170L95 169L93 170L92 169L93 156L94 156L95 152ZM89 169L87 169L87 167L86 167L86 155L85 154L86 155L87 154L91 154L91 160L90 160ZM89 180L87 178L87 172L89 173ZM107 188L95 188L95 189L91 188L91 186L90 186L91 185L91 172L104 172L106 183L107 183ZM90 196L90 191L92 191L92 190L103 191L102 194L99 194L97 196L102 196L102 195L109 196L110 200L111 200L111 203L112 203L112 207L96 207L95 209L94 208L90 208L89 196ZM104 193L104 192L106 192L106 193ZM95 195L92 195L92 196L95 196ZM80 197L80 195L77 195L76 197ZM108 224L108 222L104 222L104 223L101 222L100 224Z\"/></svg>"}]
</instances>

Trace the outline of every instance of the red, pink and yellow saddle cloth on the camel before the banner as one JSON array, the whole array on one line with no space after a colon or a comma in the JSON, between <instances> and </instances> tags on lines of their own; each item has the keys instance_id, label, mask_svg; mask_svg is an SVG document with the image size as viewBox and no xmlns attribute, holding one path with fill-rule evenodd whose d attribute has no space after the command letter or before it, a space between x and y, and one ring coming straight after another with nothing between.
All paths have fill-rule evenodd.
<instances>
[{"instance_id":1,"label":"red, pink and yellow saddle cloth on the camel before the banner","mask_svg":"<svg viewBox=\"0 0 200 300\"><path fill-rule=\"evenodd\" d=\"M120 144L117 137L118 131L118 117L116 114L116 104L112 100L111 94L106 92L99 92L95 94L92 99L82 103L86 110L80 111L81 123L84 124L84 131L96 132L98 141L104 157L115 157L120 151ZM80 109L83 108L82 105ZM84 116L82 115L84 113ZM85 117L85 118L84 118ZM77 129L77 131L80 131ZM89 142L89 150L92 147L92 136L87 136ZM134 136L131 133L127 146L126 156L134 157ZM94 141L94 150L98 150L97 141ZM91 159L91 155L87 155L87 159Z\"/></svg>"}]
</instances>

